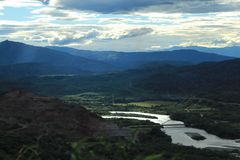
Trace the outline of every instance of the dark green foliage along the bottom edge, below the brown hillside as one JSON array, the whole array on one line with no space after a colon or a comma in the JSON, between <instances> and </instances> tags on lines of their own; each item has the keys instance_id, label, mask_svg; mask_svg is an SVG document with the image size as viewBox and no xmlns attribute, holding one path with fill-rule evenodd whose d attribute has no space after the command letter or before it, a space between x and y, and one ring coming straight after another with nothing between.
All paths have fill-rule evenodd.
<instances>
[{"instance_id":1,"label":"dark green foliage along the bottom edge, below the brown hillside","mask_svg":"<svg viewBox=\"0 0 240 160\"><path fill-rule=\"evenodd\" d=\"M121 120L120 120L121 121ZM128 121L128 125L132 122ZM134 122L133 122L134 123ZM125 122L125 127L126 122ZM238 151L218 152L171 144L159 127L134 128L131 139L83 137L70 143L58 136L1 137L0 158L4 160L238 160ZM20 149L18 146L23 144Z\"/></svg>"}]
</instances>

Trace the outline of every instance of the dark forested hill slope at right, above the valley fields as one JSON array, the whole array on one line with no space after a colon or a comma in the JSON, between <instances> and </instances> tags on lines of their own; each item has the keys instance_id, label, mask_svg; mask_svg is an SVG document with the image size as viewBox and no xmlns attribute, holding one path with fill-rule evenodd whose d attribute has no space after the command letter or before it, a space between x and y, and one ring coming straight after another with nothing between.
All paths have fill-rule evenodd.
<instances>
[{"instance_id":1,"label":"dark forested hill slope at right, above the valley fields","mask_svg":"<svg viewBox=\"0 0 240 160\"><path fill-rule=\"evenodd\" d=\"M146 68L142 74L136 86L147 91L200 95L223 101L240 99L239 59L195 66L169 66L165 70Z\"/></svg>"}]
</instances>

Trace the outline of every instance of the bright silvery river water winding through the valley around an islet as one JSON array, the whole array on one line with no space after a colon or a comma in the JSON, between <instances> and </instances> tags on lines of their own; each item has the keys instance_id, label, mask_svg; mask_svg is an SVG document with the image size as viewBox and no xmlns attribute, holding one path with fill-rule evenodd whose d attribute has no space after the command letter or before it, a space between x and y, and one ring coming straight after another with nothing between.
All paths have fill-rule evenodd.
<instances>
[{"instance_id":1,"label":"bright silvery river water winding through the valley around an islet","mask_svg":"<svg viewBox=\"0 0 240 160\"><path fill-rule=\"evenodd\" d=\"M215 135L209 134L206 131L201 129L185 127L183 122L171 120L169 115L150 114L150 113L142 113L142 112L122 112L122 111L111 111L110 113L111 113L111 116L102 116L102 117L103 118L135 119L135 120L142 120L142 121L148 120L153 123L163 125L162 131L164 131L167 135L171 136L172 143L174 144L180 144L184 146L193 146L196 148L240 150L240 143L237 143L237 140L222 139ZM114 114L121 114L121 116L114 115ZM123 114L126 114L126 116L122 116ZM144 117L144 116L148 116L148 117ZM206 139L194 140L186 133L198 134L205 137Z\"/></svg>"}]
</instances>

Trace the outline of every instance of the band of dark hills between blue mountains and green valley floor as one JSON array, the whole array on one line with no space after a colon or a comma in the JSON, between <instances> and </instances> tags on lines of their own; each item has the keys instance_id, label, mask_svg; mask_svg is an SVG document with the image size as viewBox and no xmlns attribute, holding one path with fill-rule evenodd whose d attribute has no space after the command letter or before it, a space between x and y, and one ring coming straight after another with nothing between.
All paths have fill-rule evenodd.
<instances>
[{"instance_id":1,"label":"band of dark hills between blue mountains and green valley floor","mask_svg":"<svg viewBox=\"0 0 240 160\"><path fill-rule=\"evenodd\" d=\"M143 99L180 95L239 102L240 59L188 66L154 63L117 73L33 77L0 84L5 90L8 87L27 88L38 94L56 96L99 92Z\"/></svg>"}]
</instances>

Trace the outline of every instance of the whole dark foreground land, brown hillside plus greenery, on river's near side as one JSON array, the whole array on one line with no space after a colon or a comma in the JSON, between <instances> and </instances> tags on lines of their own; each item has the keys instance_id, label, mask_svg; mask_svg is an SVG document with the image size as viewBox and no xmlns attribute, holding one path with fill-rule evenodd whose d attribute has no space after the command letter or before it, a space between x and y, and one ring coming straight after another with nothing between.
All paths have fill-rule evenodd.
<instances>
[{"instance_id":1,"label":"whole dark foreground land, brown hillside plus greenery, on river's near side","mask_svg":"<svg viewBox=\"0 0 240 160\"><path fill-rule=\"evenodd\" d=\"M67 108L54 98L12 92L0 100L0 159L4 160L239 159L234 156L239 151L218 152L174 145L160 126L150 122L104 121L81 107ZM21 113L15 112L19 107ZM84 126L86 122L88 126ZM97 126L106 134L99 134ZM118 132L113 134L113 129ZM126 132L120 134L121 131Z\"/></svg>"}]
</instances>

